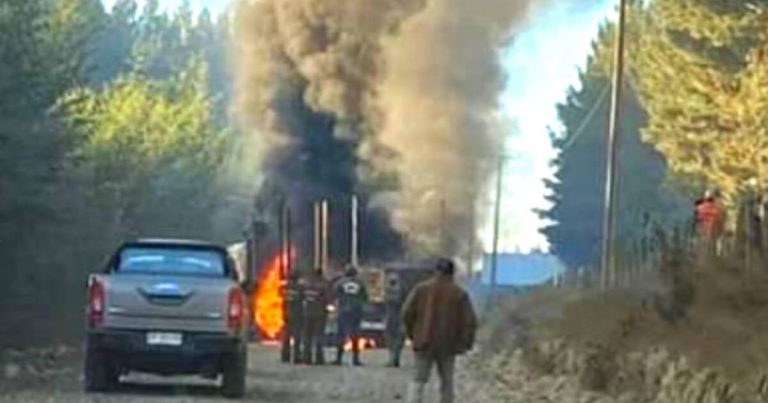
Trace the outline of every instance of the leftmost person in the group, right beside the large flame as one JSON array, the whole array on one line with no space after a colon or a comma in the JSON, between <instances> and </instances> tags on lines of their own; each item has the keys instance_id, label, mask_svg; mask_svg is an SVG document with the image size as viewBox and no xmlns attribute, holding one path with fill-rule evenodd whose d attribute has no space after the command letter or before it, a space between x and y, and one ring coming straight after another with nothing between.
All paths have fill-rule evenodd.
<instances>
[{"instance_id":1,"label":"leftmost person in the group, right beside the large flame","mask_svg":"<svg viewBox=\"0 0 768 403\"><path fill-rule=\"evenodd\" d=\"M304 331L304 287L299 274L291 272L283 284L283 330L280 358L283 362L301 363L301 336ZM293 354L291 354L293 352Z\"/></svg>"}]
</instances>

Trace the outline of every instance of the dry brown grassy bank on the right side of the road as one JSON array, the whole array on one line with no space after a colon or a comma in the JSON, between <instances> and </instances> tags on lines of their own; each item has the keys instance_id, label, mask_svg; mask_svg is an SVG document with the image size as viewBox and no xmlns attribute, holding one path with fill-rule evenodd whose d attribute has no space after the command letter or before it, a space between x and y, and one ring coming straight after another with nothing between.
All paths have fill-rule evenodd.
<instances>
[{"instance_id":1,"label":"dry brown grassy bank on the right side of the road","mask_svg":"<svg viewBox=\"0 0 768 403\"><path fill-rule=\"evenodd\" d=\"M504 301L486 337L499 348L563 339L588 351L584 386L614 389L618 357L665 349L695 367L715 368L737 383L768 368L768 272L738 271L727 260L710 267L665 268L632 289L538 290ZM531 364L552 371L541 355ZM621 385L626 387L626 385Z\"/></svg>"}]
</instances>

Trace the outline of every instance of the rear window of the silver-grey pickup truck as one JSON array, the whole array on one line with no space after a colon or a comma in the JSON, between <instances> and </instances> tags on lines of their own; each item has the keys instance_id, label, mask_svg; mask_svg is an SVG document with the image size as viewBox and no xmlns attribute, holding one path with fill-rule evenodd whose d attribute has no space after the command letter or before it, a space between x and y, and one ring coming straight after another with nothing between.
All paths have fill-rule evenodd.
<instances>
[{"instance_id":1,"label":"rear window of the silver-grey pickup truck","mask_svg":"<svg viewBox=\"0 0 768 403\"><path fill-rule=\"evenodd\" d=\"M224 257L212 250L131 247L120 252L117 272L190 276L226 275Z\"/></svg>"}]
</instances>

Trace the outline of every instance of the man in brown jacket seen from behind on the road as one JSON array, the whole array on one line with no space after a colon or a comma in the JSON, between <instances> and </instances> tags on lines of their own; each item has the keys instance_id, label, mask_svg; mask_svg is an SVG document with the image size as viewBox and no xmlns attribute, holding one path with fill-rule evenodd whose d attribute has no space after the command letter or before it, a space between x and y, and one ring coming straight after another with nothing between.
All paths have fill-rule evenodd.
<instances>
[{"instance_id":1,"label":"man in brown jacket seen from behind on the road","mask_svg":"<svg viewBox=\"0 0 768 403\"><path fill-rule=\"evenodd\" d=\"M403 304L403 325L416 357L416 371L408 390L410 402L420 403L432 367L440 377L440 401L453 402L456 356L472 349L477 330L469 295L453 281L449 259L440 259L431 279L417 285Z\"/></svg>"}]
</instances>

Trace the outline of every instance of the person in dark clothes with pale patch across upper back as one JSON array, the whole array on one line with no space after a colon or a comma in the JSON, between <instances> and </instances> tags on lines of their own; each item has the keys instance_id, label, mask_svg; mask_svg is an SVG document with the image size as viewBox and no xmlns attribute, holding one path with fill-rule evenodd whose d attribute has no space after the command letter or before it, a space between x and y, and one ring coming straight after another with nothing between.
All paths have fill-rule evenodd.
<instances>
[{"instance_id":1,"label":"person in dark clothes with pale patch across upper back","mask_svg":"<svg viewBox=\"0 0 768 403\"><path fill-rule=\"evenodd\" d=\"M344 358L344 344L349 340L352 343L352 362L354 365L362 365L360 362L360 325L363 321L363 308L368 303L368 290L365 284L357 277L357 269L347 267L342 277L336 284L336 300L338 301L338 341L336 346L336 361L341 365Z\"/></svg>"}]
</instances>

